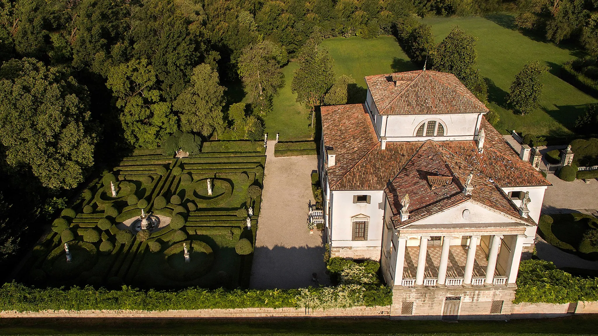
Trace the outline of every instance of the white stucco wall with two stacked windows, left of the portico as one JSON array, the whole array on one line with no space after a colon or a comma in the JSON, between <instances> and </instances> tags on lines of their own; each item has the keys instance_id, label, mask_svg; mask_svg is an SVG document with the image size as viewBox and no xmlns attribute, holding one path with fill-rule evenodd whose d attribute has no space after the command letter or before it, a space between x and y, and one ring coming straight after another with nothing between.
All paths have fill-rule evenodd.
<instances>
[{"instance_id":1,"label":"white stucco wall with two stacked windows, left of the portico","mask_svg":"<svg viewBox=\"0 0 598 336\"><path fill-rule=\"evenodd\" d=\"M382 248L384 216L383 191L331 191L331 245L340 247ZM370 195L371 203L353 203L354 195ZM368 240L352 240L352 218L365 215L370 218Z\"/></svg>"}]
</instances>

